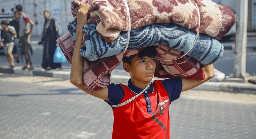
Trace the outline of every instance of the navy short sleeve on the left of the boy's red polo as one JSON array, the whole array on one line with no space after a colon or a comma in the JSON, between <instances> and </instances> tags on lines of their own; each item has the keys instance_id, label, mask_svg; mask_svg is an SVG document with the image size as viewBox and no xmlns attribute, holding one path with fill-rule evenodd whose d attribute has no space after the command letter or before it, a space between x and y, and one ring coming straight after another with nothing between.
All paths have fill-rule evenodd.
<instances>
[{"instance_id":1,"label":"navy short sleeve on the left of the boy's red polo","mask_svg":"<svg viewBox=\"0 0 256 139\"><path fill-rule=\"evenodd\" d=\"M120 84L111 83L108 85L108 99L106 101L110 106L117 105L124 97L124 90Z\"/></svg>"}]
</instances>

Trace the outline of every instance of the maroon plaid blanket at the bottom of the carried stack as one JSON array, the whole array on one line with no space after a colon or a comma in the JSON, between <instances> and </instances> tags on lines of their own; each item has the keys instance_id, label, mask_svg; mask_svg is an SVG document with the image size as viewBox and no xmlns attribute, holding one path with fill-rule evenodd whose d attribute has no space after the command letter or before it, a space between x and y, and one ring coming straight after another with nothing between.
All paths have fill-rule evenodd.
<instances>
[{"instance_id":1,"label":"maroon plaid blanket at the bottom of the carried stack","mask_svg":"<svg viewBox=\"0 0 256 139\"><path fill-rule=\"evenodd\" d=\"M68 63L71 65L72 55L74 50L74 42L71 38L71 34L67 32L64 36L59 38L57 42L60 44L61 50L63 51ZM156 47L159 56L163 59L174 59L177 58L181 52L171 49L166 46ZM127 50L125 56L137 54L137 50ZM121 62L123 53L103 58L96 61L89 61L84 59L83 65L83 85L84 87L93 92L100 90L110 84L110 72L114 70ZM110 62L111 61L111 62ZM175 65L175 66L174 66ZM165 68L164 68L165 67ZM168 69L167 71L165 69ZM157 61L155 70L155 77L159 78L196 78L204 79L204 73L198 61L195 59L185 56L177 61L168 61L166 63L160 63Z\"/></svg>"}]
</instances>

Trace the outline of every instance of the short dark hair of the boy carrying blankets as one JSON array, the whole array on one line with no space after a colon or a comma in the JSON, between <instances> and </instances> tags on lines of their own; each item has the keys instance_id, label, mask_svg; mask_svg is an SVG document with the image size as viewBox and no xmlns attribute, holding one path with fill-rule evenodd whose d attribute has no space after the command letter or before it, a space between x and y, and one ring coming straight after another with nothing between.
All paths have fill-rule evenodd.
<instances>
[{"instance_id":1,"label":"short dark hair of the boy carrying blankets","mask_svg":"<svg viewBox=\"0 0 256 139\"><path fill-rule=\"evenodd\" d=\"M142 57L156 57L157 56L157 51L155 49L155 46L148 46L146 47L145 49L141 50L138 54L136 55L131 55L129 57L123 57L123 63L128 63L129 65L132 64L132 59L135 57L135 56L138 56L139 58L142 58Z\"/></svg>"}]
</instances>

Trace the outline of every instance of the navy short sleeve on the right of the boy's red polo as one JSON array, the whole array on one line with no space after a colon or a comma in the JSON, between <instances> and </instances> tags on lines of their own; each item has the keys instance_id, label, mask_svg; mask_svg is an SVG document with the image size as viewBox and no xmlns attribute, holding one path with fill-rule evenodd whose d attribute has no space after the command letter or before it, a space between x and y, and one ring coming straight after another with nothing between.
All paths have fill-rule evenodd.
<instances>
[{"instance_id":1,"label":"navy short sleeve on the right of the boy's red polo","mask_svg":"<svg viewBox=\"0 0 256 139\"><path fill-rule=\"evenodd\" d=\"M178 99L181 95L182 90L182 80L180 78L169 78L162 80L162 84L165 87L169 95L170 102Z\"/></svg>"}]
</instances>

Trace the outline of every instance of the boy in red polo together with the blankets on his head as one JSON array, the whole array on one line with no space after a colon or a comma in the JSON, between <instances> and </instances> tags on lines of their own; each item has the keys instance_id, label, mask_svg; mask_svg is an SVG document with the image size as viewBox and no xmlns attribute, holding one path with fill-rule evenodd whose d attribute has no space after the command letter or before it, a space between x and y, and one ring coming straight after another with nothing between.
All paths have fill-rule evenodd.
<instances>
[{"instance_id":1,"label":"boy in red polo together with the blankets on his head","mask_svg":"<svg viewBox=\"0 0 256 139\"><path fill-rule=\"evenodd\" d=\"M210 18L211 20L221 18L223 11L229 12L225 7L216 5L214 7L219 9L217 11L220 13L219 17L209 16L205 11L210 9L207 7L210 2L209 0L188 0L188 2L173 0L171 4L176 6L191 4L188 8L192 9L191 17L176 14L176 17L172 16L172 20L164 17L157 20L154 14L151 17L146 15L141 18L135 17L135 15L139 16L134 14L136 10L140 10L138 5L141 9L143 6L150 7L147 5L149 1L128 1L132 30L127 51L129 24L128 26L122 24L122 20L125 23L129 23L129 20L126 18L119 20L118 18L122 16L118 17L116 14L125 7L124 4L120 4L122 2L114 0L72 2L71 12L75 20L69 23L69 32L57 42L71 65L70 82L84 92L103 99L111 106L114 115L113 139L169 139L171 102L178 99L181 92L190 90L214 76L213 64L223 54L223 45L217 39L230 29L228 26L232 26L233 19L229 23L220 20L222 22L218 24L209 23L202 25L203 28L198 28L200 22L197 22L197 12L193 13L193 6L198 6L202 22L209 21ZM174 11L177 10L175 6L171 9L164 7L161 1L156 0L152 3L159 8L158 12L162 14L161 16L169 17L170 13L175 13ZM106 7L109 5L115 8L112 9L113 13L106 12ZM109 22L104 11L110 17L111 14L116 14L116 22ZM123 17L127 16L125 10L121 13ZM208 19L203 13L208 14ZM134 18L138 20L134 21ZM143 20L145 18L147 20ZM122 26L118 26L118 23ZM222 30L218 30L220 28ZM196 39L195 32L205 34L199 34ZM110 82L110 72L121 63L121 60L124 70L131 76L127 85ZM153 76L166 79L151 82Z\"/></svg>"}]
</instances>

